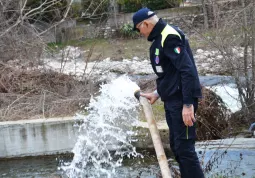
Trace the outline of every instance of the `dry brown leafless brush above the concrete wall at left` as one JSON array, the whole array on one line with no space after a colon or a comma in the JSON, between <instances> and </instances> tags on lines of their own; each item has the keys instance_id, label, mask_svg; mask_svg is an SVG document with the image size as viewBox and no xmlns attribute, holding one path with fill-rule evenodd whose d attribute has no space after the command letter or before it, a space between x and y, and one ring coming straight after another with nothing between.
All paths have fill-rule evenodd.
<instances>
[{"instance_id":1,"label":"dry brown leafless brush above the concrete wall at left","mask_svg":"<svg viewBox=\"0 0 255 178\"><path fill-rule=\"evenodd\" d=\"M0 65L0 121L73 115L89 102L91 85L53 71Z\"/></svg>"}]
</instances>

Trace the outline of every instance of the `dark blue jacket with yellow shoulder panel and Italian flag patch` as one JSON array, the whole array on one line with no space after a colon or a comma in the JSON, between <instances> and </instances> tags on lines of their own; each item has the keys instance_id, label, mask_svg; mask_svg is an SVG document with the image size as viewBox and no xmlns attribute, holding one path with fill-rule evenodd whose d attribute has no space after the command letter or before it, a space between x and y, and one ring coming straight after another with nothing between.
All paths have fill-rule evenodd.
<instances>
[{"instance_id":1,"label":"dark blue jacket with yellow shoulder panel and Italian flag patch","mask_svg":"<svg viewBox=\"0 0 255 178\"><path fill-rule=\"evenodd\" d=\"M189 42L183 32L162 19L151 31L150 59L158 76L157 90L162 101L182 96L184 104L202 97L200 82Z\"/></svg>"}]
</instances>

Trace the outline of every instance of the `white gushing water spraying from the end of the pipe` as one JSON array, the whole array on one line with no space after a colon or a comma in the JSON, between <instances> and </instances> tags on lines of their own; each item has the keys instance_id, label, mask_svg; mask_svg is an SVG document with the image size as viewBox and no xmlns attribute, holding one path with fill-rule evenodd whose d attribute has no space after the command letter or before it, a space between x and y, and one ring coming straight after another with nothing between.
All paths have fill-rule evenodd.
<instances>
[{"instance_id":1,"label":"white gushing water spraying from the end of the pipe","mask_svg":"<svg viewBox=\"0 0 255 178\"><path fill-rule=\"evenodd\" d=\"M100 95L91 98L87 116L77 115L83 124L74 158L61 167L68 177L115 177L124 156L139 155L131 144L136 134L132 127L138 121L136 89L139 87L127 76L119 77L102 85Z\"/></svg>"}]
</instances>

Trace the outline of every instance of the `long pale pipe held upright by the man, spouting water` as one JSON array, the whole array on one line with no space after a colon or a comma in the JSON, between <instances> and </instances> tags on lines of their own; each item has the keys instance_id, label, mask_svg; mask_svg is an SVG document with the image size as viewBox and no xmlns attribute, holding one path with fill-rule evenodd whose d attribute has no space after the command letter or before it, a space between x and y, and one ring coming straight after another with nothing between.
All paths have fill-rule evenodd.
<instances>
[{"instance_id":1,"label":"long pale pipe held upright by the man, spouting water","mask_svg":"<svg viewBox=\"0 0 255 178\"><path fill-rule=\"evenodd\" d=\"M138 92L135 93L136 98L140 101L143 106L145 118L147 119L149 130L151 133L152 142L157 154L160 170L163 178L172 178L171 171L168 166L166 154L161 142L157 124L152 112L151 104L145 97L140 96Z\"/></svg>"}]
</instances>

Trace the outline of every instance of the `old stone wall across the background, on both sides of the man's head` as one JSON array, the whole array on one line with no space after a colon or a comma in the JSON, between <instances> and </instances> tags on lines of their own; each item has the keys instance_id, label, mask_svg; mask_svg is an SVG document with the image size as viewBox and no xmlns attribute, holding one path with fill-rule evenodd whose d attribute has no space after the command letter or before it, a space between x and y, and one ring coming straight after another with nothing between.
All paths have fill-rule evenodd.
<instances>
[{"instance_id":1,"label":"old stone wall across the background, on both sides of the man's head","mask_svg":"<svg viewBox=\"0 0 255 178\"><path fill-rule=\"evenodd\" d=\"M187 1L188 2L188 1ZM192 6L180 6L155 11L157 16L163 18L167 23L179 26L185 33L192 33L195 28L201 29L204 25L203 10L200 0L189 1ZM214 1L213 1L214 2ZM221 0L206 5L209 17L209 26L213 27L215 17L212 9L220 10L219 14L230 14L233 9L240 8L238 0ZM220 7L220 8L219 8ZM229 13L230 12L230 13ZM109 17L107 21L99 24L79 24L70 26L70 22L65 22L51 34L47 34L52 42L66 42L69 40L80 40L86 38L109 38L116 35L116 31L124 24L132 24L133 13L118 13L116 17ZM219 19L220 21L220 19ZM220 23L220 22L219 22ZM52 37L52 35L54 37Z\"/></svg>"}]
</instances>

